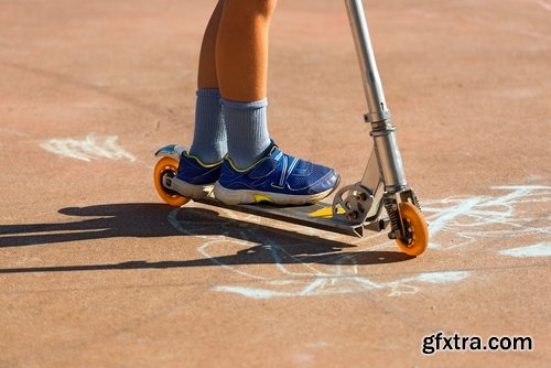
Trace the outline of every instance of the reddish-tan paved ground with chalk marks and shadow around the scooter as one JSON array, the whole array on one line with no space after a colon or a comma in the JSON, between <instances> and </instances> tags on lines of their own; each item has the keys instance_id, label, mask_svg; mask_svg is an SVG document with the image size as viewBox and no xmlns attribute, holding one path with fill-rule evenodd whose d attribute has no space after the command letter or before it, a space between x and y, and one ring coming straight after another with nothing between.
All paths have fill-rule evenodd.
<instances>
[{"instance_id":1,"label":"reddish-tan paved ground with chalk marks and shadow around the scooter","mask_svg":"<svg viewBox=\"0 0 551 368\"><path fill-rule=\"evenodd\" d=\"M418 258L160 201L153 153L191 142L214 3L0 1L0 367L549 366L551 3L366 2L430 223ZM272 137L357 182L344 4L280 1L270 50ZM491 336L531 349L475 350Z\"/></svg>"}]
</instances>

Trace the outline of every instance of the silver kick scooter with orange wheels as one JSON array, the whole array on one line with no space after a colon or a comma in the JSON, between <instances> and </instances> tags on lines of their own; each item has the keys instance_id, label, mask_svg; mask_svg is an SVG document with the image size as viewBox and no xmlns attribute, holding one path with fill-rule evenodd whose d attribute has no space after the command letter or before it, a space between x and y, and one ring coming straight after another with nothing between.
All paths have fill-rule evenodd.
<instances>
[{"instance_id":1,"label":"silver kick scooter with orange wheels","mask_svg":"<svg viewBox=\"0 0 551 368\"><path fill-rule=\"evenodd\" d=\"M323 230L364 237L365 230L382 231L395 239L407 255L421 255L429 243L429 230L420 212L419 199L408 185L396 140L395 127L387 108L379 72L375 62L361 0L345 0L361 68L368 112L365 122L371 127L374 149L364 176L356 184L338 190L333 204L279 207L269 204L226 205L208 196L197 202L274 218ZM177 193L177 166L183 145L166 145L155 156L154 184L161 198L180 207L190 198Z\"/></svg>"}]
</instances>

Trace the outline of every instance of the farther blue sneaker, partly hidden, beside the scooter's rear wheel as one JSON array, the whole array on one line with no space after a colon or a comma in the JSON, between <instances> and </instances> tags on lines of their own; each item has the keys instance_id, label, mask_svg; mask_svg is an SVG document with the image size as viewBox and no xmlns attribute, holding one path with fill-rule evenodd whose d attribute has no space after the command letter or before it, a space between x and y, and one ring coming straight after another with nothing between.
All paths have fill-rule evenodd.
<instances>
[{"instance_id":1,"label":"farther blue sneaker, partly hidden, beside the scooter's rear wheel","mask_svg":"<svg viewBox=\"0 0 551 368\"><path fill-rule=\"evenodd\" d=\"M202 162L186 151L180 156L177 175L172 180L172 190L184 197L201 199L208 196L220 176L222 160L212 164Z\"/></svg>"}]
</instances>

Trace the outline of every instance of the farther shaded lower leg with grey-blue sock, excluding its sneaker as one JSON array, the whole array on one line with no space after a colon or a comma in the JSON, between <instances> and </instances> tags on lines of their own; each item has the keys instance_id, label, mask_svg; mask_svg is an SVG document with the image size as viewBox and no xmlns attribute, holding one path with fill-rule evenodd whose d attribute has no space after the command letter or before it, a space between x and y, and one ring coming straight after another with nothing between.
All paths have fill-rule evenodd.
<instances>
[{"instance_id":1,"label":"farther shaded lower leg with grey-blue sock, excluding its sneaker","mask_svg":"<svg viewBox=\"0 0 551 368\"><path fill-rule=\"evenodd\" d=\"M227 153L226 127L222 117L220 94L216 74L216 37L224 0L210 17L201 46L195 105L195 129L190 153L204 163L220 161Z\"/></svg>"}]
</instances>

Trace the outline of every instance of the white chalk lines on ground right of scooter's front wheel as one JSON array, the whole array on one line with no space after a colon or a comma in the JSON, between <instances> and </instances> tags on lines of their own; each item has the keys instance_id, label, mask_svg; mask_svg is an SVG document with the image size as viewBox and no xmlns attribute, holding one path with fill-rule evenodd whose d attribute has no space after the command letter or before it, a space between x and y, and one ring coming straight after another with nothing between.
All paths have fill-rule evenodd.
<instances>
[{"instance_id":1,"label":"white chalk lines on ground right of scooter's front wheel","mask_svg":"<svg viewBox=\"0 0 551 368\"><path fill-rule=\"evenodd\" d=\"M428 201L431 248L451 249L483 238L551 236L551 186L494 186L497 196L453 196ZM445 243L441 242L445 240Z\"/></svg>"}]
</instances>

